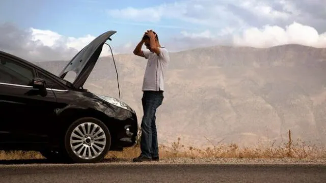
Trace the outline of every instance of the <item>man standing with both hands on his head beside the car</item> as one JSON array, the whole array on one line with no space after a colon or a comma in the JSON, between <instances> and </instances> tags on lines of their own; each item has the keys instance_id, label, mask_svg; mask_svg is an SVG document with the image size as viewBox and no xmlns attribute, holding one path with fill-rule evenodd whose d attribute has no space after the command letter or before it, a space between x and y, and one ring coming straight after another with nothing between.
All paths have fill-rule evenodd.
<instances>
[{"instance_id":1,"label":"man standing with both hands on his head beside the car","mask_svg":"<svg viewBox=\"0 0 326 183\"><path fill-rule=\"evenodd\" d=\"M148 50L142 50L143 44ZM164 79L170 56L168 50L161 47L157 34L152 30L145 32L133 53L148 60L142 88L144 115L141 124L141 155L133 161L159 161L155 113L164 98Z\"/></svg>"}]
</instances>

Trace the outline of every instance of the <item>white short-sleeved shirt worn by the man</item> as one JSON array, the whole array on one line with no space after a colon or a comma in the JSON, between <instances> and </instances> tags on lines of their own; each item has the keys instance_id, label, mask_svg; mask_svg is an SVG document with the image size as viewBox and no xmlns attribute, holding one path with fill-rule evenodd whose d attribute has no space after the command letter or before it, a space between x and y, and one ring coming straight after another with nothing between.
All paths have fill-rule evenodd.
<instances>
[{"instance_id":1,"label":"white short-sleeved shirt worn by the man","mask_svg":"<svg viewBox=\"0 0 326 183\"><path fill-rule=\"evenodd\" d=\"M170 62L170 55L169 51L164 47L159 48L159 50L159 55L149 50L143 50L145 59L148 59L144 74L143 91L165 90L164 78Z\"/></svg>"}]
</instances>

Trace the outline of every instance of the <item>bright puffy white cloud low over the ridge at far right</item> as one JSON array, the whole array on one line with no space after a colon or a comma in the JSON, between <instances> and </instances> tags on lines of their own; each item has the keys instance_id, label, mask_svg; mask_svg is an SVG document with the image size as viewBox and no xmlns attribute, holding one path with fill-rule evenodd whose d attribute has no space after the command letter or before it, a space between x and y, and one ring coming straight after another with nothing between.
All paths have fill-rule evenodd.
<instances>
[{"instance_id":1,"label":"bright puffy white cloud low over the ridge at far right","mask_svg":"<svg viewBox=\"0 0 326 183\"><path fill-rule=\"evenodd\" d=\"M318 34L315 28L293 22L286 28L266 25L261 29L249 28L242 35L234 35L233 45L258 48L284 44L326 47L326 32Z\"/></svg>"}]
</instances>

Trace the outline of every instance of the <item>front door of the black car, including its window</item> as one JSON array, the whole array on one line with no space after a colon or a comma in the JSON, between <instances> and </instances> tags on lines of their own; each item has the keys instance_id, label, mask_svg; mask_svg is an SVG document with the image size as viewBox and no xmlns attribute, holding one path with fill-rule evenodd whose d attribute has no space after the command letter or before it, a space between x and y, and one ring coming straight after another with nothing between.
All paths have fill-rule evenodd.
<instances>
[{"instance_id":1,"label":"front door of the black car, including its window","mask_svg":"<svg viewBox=\"0 0 326 183\"><path fill-rule=\"evenodd\" d=\"M51 89L40 95L31 86L33 67L0 55L0 142L45 142L47 126L55 115Z\"/></svg>"}]
</instances>

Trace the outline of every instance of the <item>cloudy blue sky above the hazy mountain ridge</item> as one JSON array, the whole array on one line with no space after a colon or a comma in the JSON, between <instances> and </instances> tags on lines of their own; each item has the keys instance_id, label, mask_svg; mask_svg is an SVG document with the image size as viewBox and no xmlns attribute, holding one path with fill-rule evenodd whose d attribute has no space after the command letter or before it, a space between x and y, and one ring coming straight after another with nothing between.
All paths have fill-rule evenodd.
<instances>
[{"instance_id":1,"label":"cloudy blue sky above the hazy mountain ridge","mask_svg":"<svg viewBox=\"0 0 326 183\"><path fill-rule=\"evenodd\" d=\"M115 54L147 29L168 50L214 45L326 47L325 0L1 0L0 50L32 61L69 60L106 31ZM104 48L102 55L110 54Z\"/></svg>"}]
</instances>

